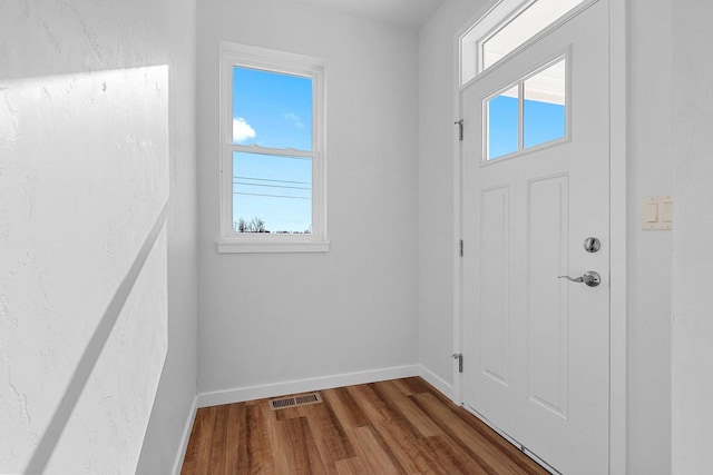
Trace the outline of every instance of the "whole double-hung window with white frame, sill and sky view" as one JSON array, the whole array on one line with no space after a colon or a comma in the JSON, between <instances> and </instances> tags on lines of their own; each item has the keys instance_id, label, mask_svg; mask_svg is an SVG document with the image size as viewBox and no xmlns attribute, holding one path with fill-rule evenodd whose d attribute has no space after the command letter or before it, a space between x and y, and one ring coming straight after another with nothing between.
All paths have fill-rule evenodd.
<instances>
[{"instance_id":1,"label":"whole double-hung window with white frame, sill and sky view","mask_svg":"<svg viewBox=\"0 0 713 475\"><path fill-rule=\"evenodd\" d=\"M221 253L326 251L322 61L221 43Z\"/></svg>"}]
</instances>

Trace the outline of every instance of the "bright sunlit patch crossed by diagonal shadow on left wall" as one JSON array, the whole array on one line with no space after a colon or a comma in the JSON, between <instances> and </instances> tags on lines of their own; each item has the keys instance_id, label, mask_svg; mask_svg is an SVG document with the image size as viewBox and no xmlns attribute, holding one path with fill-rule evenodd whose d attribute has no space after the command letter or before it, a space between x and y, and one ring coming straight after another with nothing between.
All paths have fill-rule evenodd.
<instances>
[{"instance_id":1,"label":"bright sunlit patch crossed by diagonal shadow on left wall","mask_svg":"<svg viewBox=\"0 0 713 475\"><path fill-rule=\"evenodd\" d=\"M0 473L133 473L167 352L168 67L0 80Z\"/></svg>"}]
</instances>

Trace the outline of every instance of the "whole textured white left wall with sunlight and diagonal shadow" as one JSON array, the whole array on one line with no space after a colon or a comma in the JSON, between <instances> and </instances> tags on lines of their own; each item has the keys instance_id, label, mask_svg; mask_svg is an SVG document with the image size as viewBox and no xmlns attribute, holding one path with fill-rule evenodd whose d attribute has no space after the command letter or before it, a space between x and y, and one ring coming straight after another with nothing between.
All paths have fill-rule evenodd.
<instances>
[{"instance_id":1,"label":"whole textured white left wall with sunlight and diagonal shadow","mask_svg":"<svg viewBox=\"0 0 713 475\"><path fill-rule=\"evenodd\" d=\"M143 472L141 446L173 466L195 397L193 18L0 4L2 473Z\"/></svg>"}]
</instances>

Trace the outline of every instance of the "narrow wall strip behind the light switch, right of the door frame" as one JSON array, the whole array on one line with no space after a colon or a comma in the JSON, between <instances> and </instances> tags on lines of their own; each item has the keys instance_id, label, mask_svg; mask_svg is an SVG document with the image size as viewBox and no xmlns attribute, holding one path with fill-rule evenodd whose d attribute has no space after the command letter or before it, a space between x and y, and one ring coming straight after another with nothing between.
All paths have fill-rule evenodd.
<instances>
[{"instance_id":1,"label":"narrow wall strip behind the light switch, right of the door frame","mask_svg":"<svg viewBox=\"0 0 713 475\"><path fill-rule=\"evenodd\" d=\"M629 474L671 473L673 234L641 229L642 197L673 194L671 12L671 0L628 1Z\"/></svg>"}]
</instances>

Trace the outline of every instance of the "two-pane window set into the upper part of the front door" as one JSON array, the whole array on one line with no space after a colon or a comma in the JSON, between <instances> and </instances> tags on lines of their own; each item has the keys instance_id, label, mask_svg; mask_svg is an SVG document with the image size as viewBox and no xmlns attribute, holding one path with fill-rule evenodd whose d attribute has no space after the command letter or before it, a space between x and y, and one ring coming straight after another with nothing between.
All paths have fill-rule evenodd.
<instances>
[{"instance_id":1,"label":"two-pane window set into the upper part of the front door","mask_svg":"<svg viewBox=\"0 0 713 475\"><path fill-rule=\"evenodd\" d=\"M486 99L486 160L567 138L567 59Z\"/></svg>"}]
</instances>

